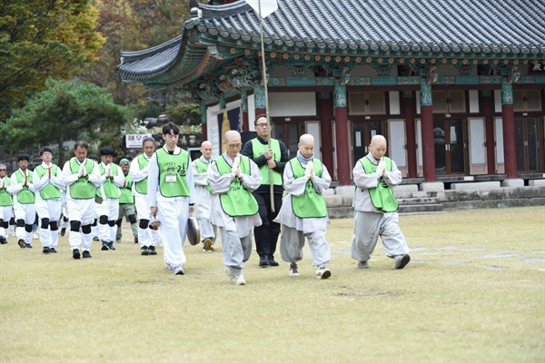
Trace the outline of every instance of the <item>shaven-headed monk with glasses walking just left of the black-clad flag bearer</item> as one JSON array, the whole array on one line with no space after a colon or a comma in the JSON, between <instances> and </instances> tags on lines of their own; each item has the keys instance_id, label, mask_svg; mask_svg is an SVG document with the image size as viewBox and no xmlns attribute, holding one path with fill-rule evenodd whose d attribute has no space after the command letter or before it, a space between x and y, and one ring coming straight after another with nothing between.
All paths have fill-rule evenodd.
<instances>
[{"instance_id":1,"label":"shaven-headed monk with glasses walking just left of the black-clad flag bearer","mask_svg":"<svg viewBox=\"0 0 545 363\"><path fill-rule=\"evenodd\" d=\"M252 255L252 229L262 224L253 196L262 175L252 159L241 155L241 134L225 132L226 151L208 168L208 180L217 197L212 209L212 223L222 236L225 273L236 285L245 285L242 270Z\"/></svg>"}]
</instances>

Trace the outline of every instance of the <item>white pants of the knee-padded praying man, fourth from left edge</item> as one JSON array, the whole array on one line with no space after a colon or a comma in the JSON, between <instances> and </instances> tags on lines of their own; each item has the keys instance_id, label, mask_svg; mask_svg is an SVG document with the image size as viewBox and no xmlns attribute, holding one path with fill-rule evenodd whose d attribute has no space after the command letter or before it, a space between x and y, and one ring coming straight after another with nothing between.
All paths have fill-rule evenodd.
<instances>
[{"instance_id":1,"label":"white pants of the knee-padded praying man, fourth from left edge","mask_svg":"<svg viewBox=\"0 0 545 363\"><path fill-rule=\"evenodd\" d=\"M88 226L85 228L91 228L91 224L94 221L94 198L72 199L70 196L67 196L66 207L68 209L68 218L71 222L80 221L82 227ZM79 249L80 245L83 250L91 250L93 236L90 231L89 233L85 233L80 228L79 231L70 231L68 242L72 250Z\"/></svg>"}]
</instances>

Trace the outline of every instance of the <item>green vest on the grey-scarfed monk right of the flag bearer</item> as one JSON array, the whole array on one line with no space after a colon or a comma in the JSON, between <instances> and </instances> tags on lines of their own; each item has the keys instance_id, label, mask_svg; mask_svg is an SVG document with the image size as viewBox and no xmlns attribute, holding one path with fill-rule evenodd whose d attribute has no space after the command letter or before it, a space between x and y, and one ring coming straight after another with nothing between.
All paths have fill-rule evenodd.
<instances>
[{"instance_id":1,"label":"green vest on the grey-scarfed monk right of the flag bearer","mask_svg":"<svg viewBox=\"0 0 545 363\"><path fill-rule=\"evenodd\" d=\"M304 175L304 168L297 158L293 158L292 164L293 177L301 178ZM318 159L312 159L314 173L316 176L322 176L322 162ZM299 196L292 195L293 214L299 218L323 218L327 216L327 208L323 195L316 192L312 185L312 180L308 180L304 193Z\"/></svg>"}]
</instances>

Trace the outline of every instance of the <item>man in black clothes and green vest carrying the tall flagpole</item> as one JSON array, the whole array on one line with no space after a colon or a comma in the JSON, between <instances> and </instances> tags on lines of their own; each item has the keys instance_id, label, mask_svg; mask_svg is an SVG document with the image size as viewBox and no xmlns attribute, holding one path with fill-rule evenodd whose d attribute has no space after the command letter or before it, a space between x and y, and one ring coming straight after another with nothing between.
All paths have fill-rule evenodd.
<instances>
[{"instance_id":1,"label":"man in black clothes and green vest carrying the tall flagpole","mask_svg":"<svg viewBox=\"0 0 545 363\"><path fill-rule=\"evenodd\" d=\"M272 126L267 128L265 115L258 115L253 122L257 137L244 144L242 154L252 159L259 167L262 174L262 182L259 188L253 191L253 196L259 205L259 216L263 224L253 229L255 238L255 250L259 255L259 266L266 268L278 266L274 260L274 252L280 224L274 219L282 208L282 173L286 162L290 160L290 153L283 142L272 139ZM271 148L268 146L271 138ZM272 180L269 171L272 170ZM271 183L273 184L274 211L271 208Z\"/></svg>"}]
</instances>

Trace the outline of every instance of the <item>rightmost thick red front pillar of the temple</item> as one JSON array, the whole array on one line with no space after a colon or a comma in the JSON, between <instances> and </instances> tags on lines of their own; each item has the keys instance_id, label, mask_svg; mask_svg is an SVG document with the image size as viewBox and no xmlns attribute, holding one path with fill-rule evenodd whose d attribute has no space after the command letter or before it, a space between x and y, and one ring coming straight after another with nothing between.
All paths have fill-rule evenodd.
<instances>
[{"instance_id":1,"label":"rightmost thick red front pillar of the temple","mask_svg":"<svg viewBox=\"0 0 545 363\"><path fill-rule=\"evenodd\" d=\"M515 113L513 85L507 78L501 83L501 118L503 119L503 159L507 179L517 179L517 148L515 141Z\"/></svg>"}]
</instances>

